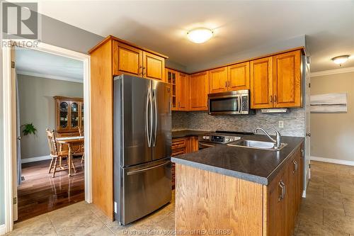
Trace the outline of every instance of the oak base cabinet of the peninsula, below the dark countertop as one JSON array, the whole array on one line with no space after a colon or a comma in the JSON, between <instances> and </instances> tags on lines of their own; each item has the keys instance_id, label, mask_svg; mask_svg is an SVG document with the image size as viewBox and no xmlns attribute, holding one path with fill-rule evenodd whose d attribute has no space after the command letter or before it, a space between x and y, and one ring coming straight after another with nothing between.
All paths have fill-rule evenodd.
<instances>
[{"instance_id":1,"label":"oak base cabinet of the peninsula, below the dark countertop","mask_svg":"<svg viewBox=\"0 0 354 236\"><path fill-rule=\"evenodd\" d=\"M302 149L268 186L176 164L176 230L292 235L302 201Z\"/></svg>"}]
</instances>

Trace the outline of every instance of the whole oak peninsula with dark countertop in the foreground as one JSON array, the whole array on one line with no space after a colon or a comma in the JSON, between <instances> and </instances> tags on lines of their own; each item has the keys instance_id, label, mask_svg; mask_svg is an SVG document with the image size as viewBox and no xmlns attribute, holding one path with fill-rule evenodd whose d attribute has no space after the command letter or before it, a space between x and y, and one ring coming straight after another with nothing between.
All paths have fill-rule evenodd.
<instances>
[{"instance_id":1,"label":"whole oak peninsula with dark countertop in the foreground","mask_svg":"<svg viewBox=\"0 0 354 236\"><path fill-rule=\"evenodd\" d=\"M245 140L268 141L264 135ZM219 145L172 157L176 230L185 235L291 235L303 189L302 137L278 152Z\"/></svg>"}]
</instances>

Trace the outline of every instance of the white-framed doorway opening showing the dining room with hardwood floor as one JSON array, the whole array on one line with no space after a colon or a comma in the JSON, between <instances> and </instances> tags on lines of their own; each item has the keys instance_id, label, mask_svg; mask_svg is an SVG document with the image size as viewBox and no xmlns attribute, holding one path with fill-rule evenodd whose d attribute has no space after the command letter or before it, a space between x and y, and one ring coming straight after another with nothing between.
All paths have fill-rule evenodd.
<instances>
[{"instance_id":1,"label":"white-framed doorway opening showing the dining room with hardwood floor","mask_svg":"<svg viewBox=\"0 0 354 236\"><path fill-rule=\"evenodd\" d=\"M18 217L13 220L19 223L84 201L84 138L72 145L70 176L68 145L57 141L84 134L84 68L79 60L28 48L15 47L14 55Z\"/></svg>"}]
</instances>

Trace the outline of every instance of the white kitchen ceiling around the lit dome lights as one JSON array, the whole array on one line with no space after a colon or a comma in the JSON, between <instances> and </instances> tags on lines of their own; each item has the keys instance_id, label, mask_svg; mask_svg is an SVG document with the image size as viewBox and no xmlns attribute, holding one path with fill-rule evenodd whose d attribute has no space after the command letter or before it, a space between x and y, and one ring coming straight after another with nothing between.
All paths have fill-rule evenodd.
<instances>
[{"instance_id":1,"label":"white kitchen ceiling around the lit dome lights","mask_svg":"<svg viewBox=\"0 0 354 236\"><path fill-rule=\"evenodd\" d=\"M312 72L338 68L331 57L354 55L354 1L40 1L39 11L187 69L299 35L307 35ZM185 34L196 26L215 29L215 38L190 43ZM353 66L354 57L343 64Z\"/></svg>"}]
</instances>

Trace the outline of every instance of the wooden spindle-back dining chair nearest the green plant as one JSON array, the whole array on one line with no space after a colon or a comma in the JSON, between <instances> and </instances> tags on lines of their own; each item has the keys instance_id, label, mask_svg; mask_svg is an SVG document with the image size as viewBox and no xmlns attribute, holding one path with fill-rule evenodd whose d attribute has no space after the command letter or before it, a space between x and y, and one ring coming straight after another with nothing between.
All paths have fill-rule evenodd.
<instances>
[{"instance_id":1,"label":"wooden spindle-back dining chair nearest the green plant","mask_svg":"<svg viewBox=\"0 0 354 236\"><path fill-rule=\"evenodd\" d=\"M66 157L68 160L69 152L67 150L66 151L58 150L57 140L55 139L54 130L50 131L47 129L46 131L47 131L48 146L49 146L49 150L50 150L50 157L52 157L52 160L50 161L48 173L50 174L50 172L53 169L52 177L54 178L55 172L57 172L57 168L61 167L62 158ZM59 159L59 164L57 164L58 159Z\"/></svg>"}]
</instances>

